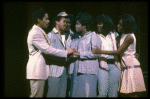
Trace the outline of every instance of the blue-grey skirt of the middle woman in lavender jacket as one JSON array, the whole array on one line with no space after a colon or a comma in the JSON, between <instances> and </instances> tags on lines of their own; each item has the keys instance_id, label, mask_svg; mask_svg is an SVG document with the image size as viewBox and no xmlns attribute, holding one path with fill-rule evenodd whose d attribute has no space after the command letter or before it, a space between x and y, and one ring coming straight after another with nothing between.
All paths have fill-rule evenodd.
<instances>
[{"instance_id":1,"label":"blue-grey skirt of the middle woman in lavender jacket","mask_svg":"<svg viewBox=\"0 0 150 99\"><path fill-rule=\"evenodd\" d=\"M96 97L97 76L93 74L71 75L70 97Z\"/></svg>"}]
</instances>

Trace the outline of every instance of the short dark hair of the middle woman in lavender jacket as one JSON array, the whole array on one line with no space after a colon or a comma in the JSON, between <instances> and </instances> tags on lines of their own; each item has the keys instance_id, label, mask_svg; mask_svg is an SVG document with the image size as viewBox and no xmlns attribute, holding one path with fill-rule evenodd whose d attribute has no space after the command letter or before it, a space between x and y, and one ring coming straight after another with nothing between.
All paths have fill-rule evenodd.
<instances>
[{"instance_id":1,"label":"short dark hair of the middle woman in lavender jacket","mask_svg":"<svg viewBox=\"0 0 150 99\"><path fill-rule=\"evenodd\" d=\"M76 16L76 21L79 21L82 26L86 26L87 31L90 31L93 26L93 18L87 12L79 12Z\"/></svg>"}]
</instances>

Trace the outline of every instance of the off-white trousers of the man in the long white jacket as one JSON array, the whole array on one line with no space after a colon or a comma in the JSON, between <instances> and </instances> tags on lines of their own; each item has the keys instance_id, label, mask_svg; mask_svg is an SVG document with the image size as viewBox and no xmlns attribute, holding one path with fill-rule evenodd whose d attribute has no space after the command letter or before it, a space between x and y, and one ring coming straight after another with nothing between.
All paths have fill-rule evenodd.
<instances>
[{"instance_id":1,"label":"off-white trousers of the man in the long white jacket","mask_svg":"<svg viewBox=\"0 0 150 99\"><path fill-rule=\"evenodd\" d=\"M45 80L30 80L30 98L42 98L44 93Z\"/></svg>"}]
</instances>

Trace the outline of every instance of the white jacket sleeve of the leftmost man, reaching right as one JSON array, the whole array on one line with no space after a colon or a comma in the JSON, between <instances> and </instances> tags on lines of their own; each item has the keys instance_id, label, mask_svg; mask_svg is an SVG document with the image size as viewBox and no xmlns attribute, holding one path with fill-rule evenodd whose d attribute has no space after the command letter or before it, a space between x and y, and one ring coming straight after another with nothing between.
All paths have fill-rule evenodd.
<instances>
[{"instance_id":1,"label":"white jacket sleeve of the leftmost man, reaching right","mask_svg":"<svg viewBox=\"0 0 150 99\"><path fill-rule=\"evenodd\" d=\"M47 55L67 58L68 52L66 50L59 50L49 46L46 42L46 39L40 32L37 32L33 35L32 44Z\"/></svg>"}]
</instances>

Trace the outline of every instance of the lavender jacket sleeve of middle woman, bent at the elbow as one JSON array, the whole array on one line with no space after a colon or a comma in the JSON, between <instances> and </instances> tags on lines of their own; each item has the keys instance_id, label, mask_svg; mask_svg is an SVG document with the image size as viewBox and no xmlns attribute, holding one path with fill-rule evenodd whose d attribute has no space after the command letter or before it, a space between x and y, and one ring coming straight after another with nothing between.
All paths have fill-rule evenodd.
<instances>
[{"instance_id":1,"label":"lavender jacket sleeve of middle woman, bent at the elbow","mask_svg":"<svg viewBox=\"0 0 150 99\"><path fill-rule=\"evenodd\" d=\"M92 48L94 46L97 46L98 48L101 47L101 40L98 37L97 34L93 34L91 37L91 48L88 51L80 52L80 59L96 59L99 57L99 54L93 54L92 53Z\"/></svg>"}]
</instances>

